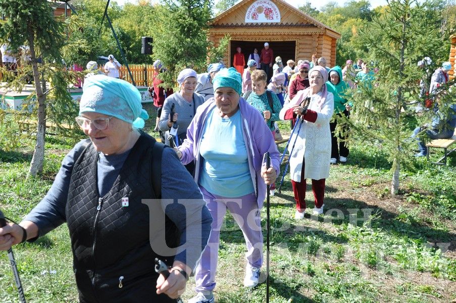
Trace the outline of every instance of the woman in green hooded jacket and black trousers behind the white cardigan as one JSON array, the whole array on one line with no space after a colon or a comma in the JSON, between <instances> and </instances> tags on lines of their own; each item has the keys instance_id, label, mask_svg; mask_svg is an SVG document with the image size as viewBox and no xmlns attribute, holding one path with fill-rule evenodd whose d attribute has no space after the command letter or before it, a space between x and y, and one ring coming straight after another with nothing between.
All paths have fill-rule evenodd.
<instances>
[{"instance_id":1,"label":"woman in green hooded jacket and black trousers behind the white cardigan","mask_svg":"<svg viewBox=\"0 0 456 303\"><path fill-rule=\"evenodd\" d=\"M342 69L340 66L335 66L329 70L329 81L326 82L326 87L329 92L334 95L334 114L329 127L331 128L331 164L336 164L337 159L340 162L347 162L348 147L346 144L348 127L344 124L342 133L335 134L337 120L343 116L349 117L351 110L351 103L345 98L345 91L350 88L348 83L343 81ZM337 142L339 141L339 142Z\"/></svg>"}]
</instances>

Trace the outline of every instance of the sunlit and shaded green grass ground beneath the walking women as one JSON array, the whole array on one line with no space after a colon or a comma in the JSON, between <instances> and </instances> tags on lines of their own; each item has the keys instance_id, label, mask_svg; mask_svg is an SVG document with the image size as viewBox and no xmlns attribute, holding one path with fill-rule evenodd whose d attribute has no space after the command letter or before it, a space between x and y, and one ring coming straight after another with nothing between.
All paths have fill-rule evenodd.
<instances>
[{"instance_id":1,"label":"sunlit and shaded green grass ground beneath the walking women","mask_svg":"<svg viewBox=\"0 0 456 303\"><path fill-rule=\"evenodd\" d=\"M150 132L155 112L150 105L146 109L151 115L146 124ZM281 128L288 125L281 123ZM73 144L55 136L46 139L42 178L25 180L32 139L24 138L27 144L17 151L0 150L0 208L14 220L20 221L45 195ZM308 186L308 210L300 221L293 218L291 183L289 176L285 178L282 193L276 190L271 198L271 302L456 299L454 157L447 167L416 160L414 170L401 172L396 197L389 196L391 164L386 159L385 151L375 142L352 146L347 164L331 166L325 215L311 216L313 195ZM266 226L266 208L262 225ZM14 251L28 301L77 301L65 225L33 244L17 245ZM242 232L228 214L226 230L221 233L217 302L265 301L266 283L252 290L242 286L244 254ZM264 266L263 280L265 270ZM5 252L0 254L0 285L0 301L18 301ZM194 295L193 287L191 278L184 300Z\"/></svg>"}]
</instances>

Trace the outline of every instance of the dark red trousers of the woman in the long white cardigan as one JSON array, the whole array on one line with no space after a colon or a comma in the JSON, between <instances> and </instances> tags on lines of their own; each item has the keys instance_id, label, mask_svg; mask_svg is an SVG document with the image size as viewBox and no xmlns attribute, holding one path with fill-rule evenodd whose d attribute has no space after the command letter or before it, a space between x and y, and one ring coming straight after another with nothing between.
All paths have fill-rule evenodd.
<instances>
[{"instance_id":1,"label":"dark red trousers of the woman in the long white cardigan","mask_svg":"<svg viewBox=\"0 0 456 303\"><path fill-rule=\"evenodd\" d=\"M303 212L306 210L306 179L304 176L305 161L302 161L301 181L295 182L291 180L293 186L294 200L296 201L296 210ZM323 206L323 198L325 197L325 181L326 179L314 180L312 179L312 192L315 197L315 207L321 208Z\"/></svg>"}]
</instances>

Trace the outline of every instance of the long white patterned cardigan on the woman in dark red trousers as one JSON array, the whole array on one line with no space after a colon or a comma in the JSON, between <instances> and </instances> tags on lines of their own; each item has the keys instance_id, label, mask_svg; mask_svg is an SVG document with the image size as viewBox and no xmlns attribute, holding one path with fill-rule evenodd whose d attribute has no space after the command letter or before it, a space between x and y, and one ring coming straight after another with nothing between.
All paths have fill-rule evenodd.
<instances>
[{"instance_id":1,"label":"long white patterned cardigan on the woman in dark red trousers","mask_svg":"<svg viewBox=\"0 0 456 303\"><path fill-rule=\"evenodd\" d=\"M324 84L325 85L325 84ZM285 112L303 99L308 90L300 90L294 98L280 111L280 119L284 120ZM320 106L321 92L311 96L308 109L317 112L315 123L304 120L297 123L293 136L288 145L288 152L294 145L293 154L290 155L290 176L295 182L301 181L302 162L305 159L304 179L326 179L329 177L329 159L331 158L331 130L329 121L334 111L334 96L328 91L325 102ZM321 107L321 109L320 109ZM298 133L298 129L300 130ZM296 138L297 137L297 138Z\"/></svg>"}]
</instances>

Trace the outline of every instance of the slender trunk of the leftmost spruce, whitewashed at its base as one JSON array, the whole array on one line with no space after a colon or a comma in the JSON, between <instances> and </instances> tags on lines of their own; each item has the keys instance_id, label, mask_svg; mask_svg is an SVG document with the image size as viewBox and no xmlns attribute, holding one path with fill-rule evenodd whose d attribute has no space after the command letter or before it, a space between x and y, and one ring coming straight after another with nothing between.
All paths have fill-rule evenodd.
<instances>
[{"instance_id":1,"label":"slender trunk of the leftmost spruce, whitewashed at its base","mask_svg":"<svg viewBox=\"0 0 456 303\"><path fill-rule=\"evenodd\" d=\"M43 90L40 86L40 77L38 72L38 62L35 54L35 46L33 43L34 34L29 29L27 37L30 46L30 57L32 61L33 79L35 81L36 98L38 99L38 127L36 131L36 144L35 150L33 151L32 161L30 163L30 169L27 178L30 176L36 176L43 172L44 162L44 136L46 134L46 95L43 94Z\"/></svg>"}]
</instances>

